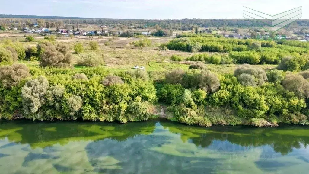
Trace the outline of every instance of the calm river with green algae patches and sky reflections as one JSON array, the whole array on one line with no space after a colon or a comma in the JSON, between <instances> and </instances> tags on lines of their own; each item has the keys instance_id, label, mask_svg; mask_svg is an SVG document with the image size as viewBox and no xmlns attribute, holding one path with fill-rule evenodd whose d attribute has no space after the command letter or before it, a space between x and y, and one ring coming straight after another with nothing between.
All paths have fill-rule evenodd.
<instances>
[{"instance_id":1,"label":"calm river with green algae patches and sky reflections","mask_svg":"<svg viewBox=\"0 0 309 174\"><path fill-rule=\"evenodd\" d=\"M309 173L309 128L0 122L0 173Z\"/></svg>"}]
</instances>

